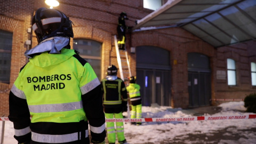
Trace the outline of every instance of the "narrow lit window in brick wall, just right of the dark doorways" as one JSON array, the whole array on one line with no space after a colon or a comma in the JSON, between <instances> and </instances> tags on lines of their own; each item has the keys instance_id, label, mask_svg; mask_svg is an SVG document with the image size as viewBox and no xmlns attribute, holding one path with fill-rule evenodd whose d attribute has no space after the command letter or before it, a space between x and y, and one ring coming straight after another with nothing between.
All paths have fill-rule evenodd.
<instances>
[{"instance_id":1,"label":"narrow lit window in brick wall, just right of the dark doorways","mask_svg":"<svg viewBox=\"0 0 256 144\"><path fill-rule=\"evenodd\" d=\"M233 59L227 59L228 85L236 85L236 62Z\"/></svg>"}]
</instances>

